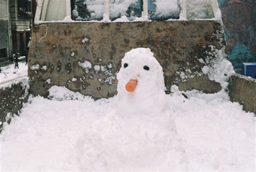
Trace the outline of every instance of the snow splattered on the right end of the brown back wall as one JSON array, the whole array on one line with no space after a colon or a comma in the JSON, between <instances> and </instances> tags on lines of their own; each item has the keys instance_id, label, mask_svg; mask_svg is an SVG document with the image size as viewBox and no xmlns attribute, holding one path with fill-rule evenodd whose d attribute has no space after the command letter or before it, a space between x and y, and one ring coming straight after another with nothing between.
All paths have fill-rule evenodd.
<instances>
[{"instance_id":1,"label":"snow splattered on the right end of the brown back wall","mask_svg":"<svg viewBox=\"0 0 256 172\"><path fill-rule=\"evenodd\" d=\"M185 82L187 78L194 78L199 77L202 75L207 75L208 78L211 81L215 81L217 83L220 83L221 88L227 90L228 87L228 80L231 77L232 74L235 73L232 63L227 60L227 54L225 50L225 45L223 45L223 39L221 38L221 35L224 34L224 31L216 30L216 34L214 35L219 40L218 43L221 46L220 49L213 45L208 45L207 48L209 48L208 51L205 51L205 59L198 59L199 63L205 64L203 68L192 71L188 69L189 63L187 62L187 66L181 66L178 71L176 71L176 75L178 76L176 78L177 82ZM197 56L194 56L194 58L198 58ZM194 61L196 62L196 61ZM193 68L197 68L198 65L194 65Z\"/></svg>"}]
</instances>

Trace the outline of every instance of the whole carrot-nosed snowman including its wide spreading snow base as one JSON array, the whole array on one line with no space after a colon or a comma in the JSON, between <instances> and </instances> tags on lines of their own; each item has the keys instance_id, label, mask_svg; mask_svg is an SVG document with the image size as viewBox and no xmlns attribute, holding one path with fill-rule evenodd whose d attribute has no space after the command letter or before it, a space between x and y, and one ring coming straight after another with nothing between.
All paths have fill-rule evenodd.
<instances>
[{"instance_id":1,"label":"whole carrot-nosed snowman including its wide spreading snow base","mask_svg":"<svg viewBox=\"0 0 256 172\"><path fill-rule=\"evenodd\" d=\"M111 111L86 128L65 164L83 171L186 170L163 69L150 49L127 52L117 79Z\"/></svg>"}]
</instances>

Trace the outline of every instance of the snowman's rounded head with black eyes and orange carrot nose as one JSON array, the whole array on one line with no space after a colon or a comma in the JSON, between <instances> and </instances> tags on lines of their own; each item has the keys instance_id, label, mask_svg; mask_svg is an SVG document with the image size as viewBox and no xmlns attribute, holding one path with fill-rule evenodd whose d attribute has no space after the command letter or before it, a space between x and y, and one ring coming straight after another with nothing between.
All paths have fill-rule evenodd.
<instances>
[{"instance_id":1,"label":"snowman's rounded head with black eyes and orange carrot nose","mask_svg":"<svg viewBox=\"0 0 256 172\"><path fill-rule=\"evenodd\" d=\"M150 96L165 90L163 69L149 48L127 52L117 74L119 96Z\"/></svg>"}]
</instances>

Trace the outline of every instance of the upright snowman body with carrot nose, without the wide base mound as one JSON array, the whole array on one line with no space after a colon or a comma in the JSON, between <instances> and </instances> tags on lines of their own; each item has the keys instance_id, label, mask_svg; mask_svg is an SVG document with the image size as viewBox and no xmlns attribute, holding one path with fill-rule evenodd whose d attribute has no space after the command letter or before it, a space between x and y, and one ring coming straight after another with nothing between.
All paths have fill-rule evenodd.
<instances>
[{"instance_id":1,"label":"upright snowman body with carrot nose, without the wide base mound","mask_svg":"<svg viewBox=\"0 0 256 172\"><path fill-rule=\"evenodd\" d=\"M163 69L149 48L127 52L117 80L116 106L119 115L151 117L160 125L176 130L165 94Z\"/></svg>"}]
</instances>

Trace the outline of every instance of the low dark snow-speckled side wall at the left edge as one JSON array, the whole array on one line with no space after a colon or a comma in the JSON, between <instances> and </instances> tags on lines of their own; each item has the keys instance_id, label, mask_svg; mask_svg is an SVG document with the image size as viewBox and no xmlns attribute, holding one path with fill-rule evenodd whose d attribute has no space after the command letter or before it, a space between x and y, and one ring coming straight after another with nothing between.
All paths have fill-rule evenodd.
<instances>
[{"instance_id":1,"label":"low dark snow-speckled side wall at the left edge","mask_svg":"<svg viewBox=\"0 0 256 172\"><path fill-rule=\"evenodd\" d=\"M11 117L22 109L23 103L28 101L28 96L28 77L0 83L0 132L3 129L3 123L7 121L9 124Z\"/></svg>"}]
</instances>

